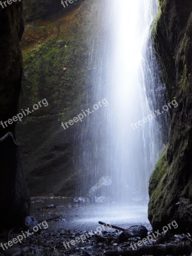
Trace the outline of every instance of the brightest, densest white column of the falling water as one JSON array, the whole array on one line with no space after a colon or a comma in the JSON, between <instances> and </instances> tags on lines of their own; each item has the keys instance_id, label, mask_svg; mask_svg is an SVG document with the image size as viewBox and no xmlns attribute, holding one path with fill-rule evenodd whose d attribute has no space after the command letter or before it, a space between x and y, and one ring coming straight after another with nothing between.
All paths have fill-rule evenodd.
<instances>
[{"instance_id":1,"label":"brightest, densest white column of the falling water","mask_svg":"<svg viewBox=\"0 0 192 256\"><path fill-rule=\"evenodd\" d=\"M116 201L141 201L147 196L148 179L160 156L159 124L151 120L145 91L142 59L149 28L157 13L156 0L116 2L114 29L113 179ZM150 115L150 116L149 116ZM145 123L143 122L143 118ZM111 168L112 169L112 168Z\"/></svg>"}]
</instances>

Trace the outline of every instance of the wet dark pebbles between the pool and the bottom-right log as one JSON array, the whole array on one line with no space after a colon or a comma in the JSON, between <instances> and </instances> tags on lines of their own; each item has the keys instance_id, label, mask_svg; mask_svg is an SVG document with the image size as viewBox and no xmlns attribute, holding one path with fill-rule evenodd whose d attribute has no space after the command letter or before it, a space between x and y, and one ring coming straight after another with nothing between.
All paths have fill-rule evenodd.
<instances>
[{"instance_id":1,"label":"wet dark pebbles between the pool and the bottom-right log","mask_svg":"<svg viewBox=\"0 0 192 256\"><path fill-rule=\"evenodd\" d=\"M12 240L13 238L20 235L20 231L21 229L17 230L18 233L13 232L10 235L9 239ZM88 235L86 235L86 233ZM96 231L90 233L88 230L84 232L78 230L70 231L64 229L59 229L55 232L42 230L40 234L33 234L26 239L23 239L22 243L15 244L11 249L1 251L1 253L6 256L104 256L105 252L107 252L108 250L128 250L130 249L131 242L137 242L140 240L140 237L134 237L128 239L127 242L119 244L118 237L120 233L121 232L118 232L117 230L115 230L114 232L103 231L100 233ZM79 243L76 243L74 245L70 244L70 247L68 247L66 243L64 246L64 242L75 240L82 235L86 237L86 239L84 239L84 242L80 241ZM89 238L87 236L89 236ZM101 241L101 236L105 237L106 240ZM166 237L166 241L163 241L164 244L178 244L191 239L189 234L164 234L163 236ZM163 238L163 236L161 237L161 239ZM112 241L110 241L111 238L113 238ZM1 241L3 243L6 242L5 238L2 239L2 235ZM159 244L158 239L152 240L152 244ZM147 243L146 245L151 244Z\"/></svg>"}]
</instances>

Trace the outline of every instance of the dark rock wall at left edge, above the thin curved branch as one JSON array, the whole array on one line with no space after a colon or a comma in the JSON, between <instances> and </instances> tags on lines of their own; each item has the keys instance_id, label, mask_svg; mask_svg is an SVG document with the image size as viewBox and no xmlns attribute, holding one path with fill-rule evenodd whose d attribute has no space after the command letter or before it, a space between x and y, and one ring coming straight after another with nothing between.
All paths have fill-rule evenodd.
<instances>
[{"instance_id":1,"label":"dark rock wall at left edge, above the thin curved branch","mask_svg":"<svg viewBox=\"0 0 192 256\"><path fill-rule=\"evenodd\" d=\"M21 4L0 8L0 118L6 121L17 114L22 78L20 39L23 34ZM15 25L12 25L14 23ZM15 124L15 122L14 122ZM15 125L0 126L0 137L6 132L15 133Z\"/></svg>"}]
</instances>

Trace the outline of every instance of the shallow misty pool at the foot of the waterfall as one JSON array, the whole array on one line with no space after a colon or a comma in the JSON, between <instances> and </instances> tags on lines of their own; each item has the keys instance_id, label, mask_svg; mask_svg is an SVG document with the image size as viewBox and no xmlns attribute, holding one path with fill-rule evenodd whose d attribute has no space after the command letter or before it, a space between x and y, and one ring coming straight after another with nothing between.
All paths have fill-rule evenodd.
<instances>
[{"instance_id":1,"label":"shallow misty pool at the foot of the waterfall","mask_svg":"<svg viewBox=\"0 0 192 256\"><path fill-rule=\"evenodd\" d=\"M62 215L62 218L49 222L49 231L55 231L60 228L65 230L95 231L99 226L98 221L110 222L123 228L142 224L148 230L151 229L147 218L147 205L119 207L115 203L77 204L73 202L73 198L36 197L32 198L31 214L42 220Z\"/></svg>"}]
</instances>

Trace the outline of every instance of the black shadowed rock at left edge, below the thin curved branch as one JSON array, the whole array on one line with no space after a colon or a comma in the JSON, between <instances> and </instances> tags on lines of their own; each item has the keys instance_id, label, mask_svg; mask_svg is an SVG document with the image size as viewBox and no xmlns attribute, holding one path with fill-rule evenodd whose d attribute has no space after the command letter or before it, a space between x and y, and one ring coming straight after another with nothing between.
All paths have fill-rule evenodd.
<instances>
[{"instance_id":1,"label":"black shadowed rock at left edge, below the thin curved branch","mask_svg":"<svg viewBox=\"0 0 192 256\"><path fill-rule=\"evenodd\" d=\"M0 225L14 226L29 214L29 197L20 165L18 143L11 133L0 139Z\"/></svg>"}]
</instances>

